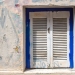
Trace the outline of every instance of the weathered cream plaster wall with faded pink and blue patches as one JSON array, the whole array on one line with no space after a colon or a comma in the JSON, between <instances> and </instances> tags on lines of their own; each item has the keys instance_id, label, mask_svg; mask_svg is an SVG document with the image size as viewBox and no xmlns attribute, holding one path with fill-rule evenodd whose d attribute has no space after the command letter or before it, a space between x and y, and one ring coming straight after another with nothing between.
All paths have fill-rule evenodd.
<instances>
[{"instance_id":1,"label":"weathered cream plaster wall with faded pink and blue patches","mask_svg":"<svg viewBox=\"0 0 75 75\"><path fill-rule=\"evenodd\" d=\"M70 6L75 5L75 2L74 0L0 0L0 70L23 71L22 6L36 4Z\"/></svg>"}]
</instances>

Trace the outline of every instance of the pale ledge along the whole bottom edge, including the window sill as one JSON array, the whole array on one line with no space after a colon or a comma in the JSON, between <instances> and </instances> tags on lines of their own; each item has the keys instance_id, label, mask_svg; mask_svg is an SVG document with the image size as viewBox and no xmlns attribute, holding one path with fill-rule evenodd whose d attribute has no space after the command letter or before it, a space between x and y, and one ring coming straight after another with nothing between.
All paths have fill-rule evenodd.
<instances>
[{"instance_id":1,"label":"pale ledge along the whole bottom edge, including the window sill","mask_svg":"<svg viewBox=\"0 0 75 75\"><path fill-rule=\"evenodd\" d=\"M75 75L75 69L29 69L21 71L0 71L0 75Z\"/></svg>"}]
</instances>

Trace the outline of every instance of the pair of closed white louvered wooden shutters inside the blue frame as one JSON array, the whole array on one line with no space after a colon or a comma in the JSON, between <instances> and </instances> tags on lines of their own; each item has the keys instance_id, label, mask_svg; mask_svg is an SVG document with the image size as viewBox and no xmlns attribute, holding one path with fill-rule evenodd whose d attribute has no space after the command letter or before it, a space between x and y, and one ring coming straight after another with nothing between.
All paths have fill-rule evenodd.
<instances>
[{"instance_id":1,"label":"pair of closed white louvered wooden shutters inside the blue frame","mask_svg":"<svg viewBox=\"0 0 75 75\"><path fill-rule=\"evenodd\" d=\"M69 67L69 12L31 12L30 68Z\"/></svg>"}]
</instances>

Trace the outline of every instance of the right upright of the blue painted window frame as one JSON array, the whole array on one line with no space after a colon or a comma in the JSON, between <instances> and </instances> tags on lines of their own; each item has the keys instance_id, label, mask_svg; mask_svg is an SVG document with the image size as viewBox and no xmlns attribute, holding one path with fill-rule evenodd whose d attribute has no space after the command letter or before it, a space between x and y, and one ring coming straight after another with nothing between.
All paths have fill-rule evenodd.
<instances>
[{"instance_id":1,"label":"right upright of the blue painted window frame","mask_svg":"<svg viewBox=\"0 0 75 75\"><path fill-rule=\"evenodd\" d=\"M69 60L70 60L70 68L74 67L74 61L73 61L73 10L70 11L70 55L69 55Z\"/></svg>"}]
</instances>

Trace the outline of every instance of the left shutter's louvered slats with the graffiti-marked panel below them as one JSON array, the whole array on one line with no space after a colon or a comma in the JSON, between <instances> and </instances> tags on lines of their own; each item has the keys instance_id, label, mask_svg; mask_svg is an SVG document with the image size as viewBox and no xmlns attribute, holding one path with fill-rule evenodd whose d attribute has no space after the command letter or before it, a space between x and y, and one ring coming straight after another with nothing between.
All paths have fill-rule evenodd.
<instances>
[{"instance_id":1,"label":"left shutter's louvered slats with the graffiti-marked panel below them","mask_svg":"<svg viewBox=\"0 0 75 75\"><path fill-rule=\"evenodd\" d=\"M47 18L33 18L33 68L46 68Z\"/></svg>"}]
</instances>

